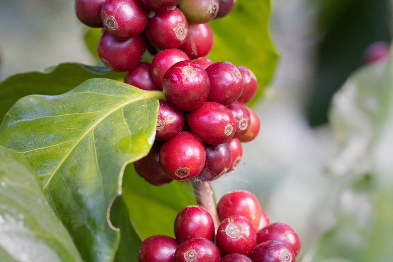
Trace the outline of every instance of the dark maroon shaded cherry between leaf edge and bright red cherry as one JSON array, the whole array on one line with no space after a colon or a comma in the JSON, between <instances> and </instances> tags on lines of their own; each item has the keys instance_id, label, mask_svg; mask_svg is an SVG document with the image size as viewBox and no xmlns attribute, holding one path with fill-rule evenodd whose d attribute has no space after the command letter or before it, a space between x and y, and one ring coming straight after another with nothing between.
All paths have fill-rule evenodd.
<instances>
[{"instance_id":1,"label":"dark maroon shaded cherry between leaf edge and bright red cherry","mask_svg":"<svg viewBox=\"0 0 393 262\"><path fill-rule=\"evenodd\" d=\"M144 158L134 162L135 172L151 185L160 186L166 185L173 181L160 165L160 149L162 146L161 141L154 141L149 154Z\"/></svg>"}]
</instances>

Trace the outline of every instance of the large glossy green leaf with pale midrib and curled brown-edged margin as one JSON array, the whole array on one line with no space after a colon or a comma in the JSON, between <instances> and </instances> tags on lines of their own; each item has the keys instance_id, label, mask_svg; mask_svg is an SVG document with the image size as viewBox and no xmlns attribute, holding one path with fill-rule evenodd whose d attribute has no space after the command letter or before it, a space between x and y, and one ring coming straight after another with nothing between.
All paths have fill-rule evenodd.
<instances>
[{"instance_id":1,"label":"large glossy green leaf with pale midrib and curled brown-edged margin","mask_svg":"<svg viewBox=\"0 0 393 262\"><path fill-rule=\"evenodd\" d=\"M32 165L86 261L112 261L119 233L108 224L127 163L154 141L161 91L89 79L57 96L20 99L0 126L0 144Z\"/></svg>"}]
</instances>

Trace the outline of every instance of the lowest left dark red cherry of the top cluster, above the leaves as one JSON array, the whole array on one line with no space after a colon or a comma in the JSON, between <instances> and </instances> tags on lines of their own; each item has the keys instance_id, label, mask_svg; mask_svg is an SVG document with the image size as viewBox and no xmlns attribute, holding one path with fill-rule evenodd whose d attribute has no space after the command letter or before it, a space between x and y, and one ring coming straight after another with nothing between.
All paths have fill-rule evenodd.
<instances>
[{"instance_id":1,"label":"lowest left dark red cherry of the top cluster, above the leaves","mask_svg":"<svg viewBox=\"0 0 393 262\"><path fill-rule=\"evenodd\" d=\"M142 59L146 40L138 35L119 40L105 31L98 41L97 51L101 62L110 70L125 72L134 68Z\"/></svg>"}]
</instances>

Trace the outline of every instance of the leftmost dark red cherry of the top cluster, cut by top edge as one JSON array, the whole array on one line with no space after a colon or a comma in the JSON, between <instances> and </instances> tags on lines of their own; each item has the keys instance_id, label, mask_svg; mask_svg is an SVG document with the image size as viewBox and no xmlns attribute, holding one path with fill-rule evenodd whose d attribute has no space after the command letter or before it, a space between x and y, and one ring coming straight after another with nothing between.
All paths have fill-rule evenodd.
<instances>
[{"instance_id":1,"label":"leftmost dark red cherry of the top cluster, cut by top edge","mask_svg":"<svg viewBox=\"0 0 393 262\"><path fill-rule=\"evenodd\" d=\"M101 7L105 0L75 0L75 14L86 26L103 27Z\"/></svg>"}]
</instances>

